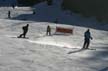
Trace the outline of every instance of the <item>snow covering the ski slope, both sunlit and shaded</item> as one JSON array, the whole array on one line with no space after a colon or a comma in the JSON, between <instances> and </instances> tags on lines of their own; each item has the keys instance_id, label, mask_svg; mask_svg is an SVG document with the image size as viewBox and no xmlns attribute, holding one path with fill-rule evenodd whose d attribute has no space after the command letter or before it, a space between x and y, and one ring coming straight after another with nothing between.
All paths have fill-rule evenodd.
<instances>
[{"instance_id":1,"label":"snow covering the ski slope, both sunlit and shaded","mask_svg":"<svg viewBox=\"0 0 108 71\"><path fill-rule=\"evenodd\" d=\"M59 1L54 1L50 7L46 2L36 5L36 9L41 7L41 10L38 10L37 15L24 16L28 19L26 21L6 19L4 13L11 8L0 8L0 71L108 71L107 23L98 23L94 18L84 18L77 14L67 15L67 11L58 7ZM12 16L31 13L24 11L25 7L18 9L23 11L17 14L14 11ZM55 17L59 17L58 24L52 22ZM19 18L22 17L16 19ZM21 27L26 24L30 24L27 34L29 39L16 38L22 33ZM52 36L45 35L47 25L51 26ZM74 33L54 34L56 26L74 28ZM80 51L83 34L88 27L93 36L90 48L96 50Z\"/></svg>"}]
</instances>

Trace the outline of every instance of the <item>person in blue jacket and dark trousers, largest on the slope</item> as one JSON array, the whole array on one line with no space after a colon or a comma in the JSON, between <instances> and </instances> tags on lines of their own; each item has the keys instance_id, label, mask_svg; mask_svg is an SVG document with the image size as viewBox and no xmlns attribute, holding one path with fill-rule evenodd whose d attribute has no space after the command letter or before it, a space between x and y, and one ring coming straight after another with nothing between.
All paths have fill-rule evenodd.
<instances>
[{"instance_id":1,"label":"person in blue jacket and dark trousers, largest on the slope","mask_svg":"<svg viewBox=\"0 0 108 71\"><path fill-rule=\"evenodd\" d=\"M92 40L93 38L91 37L90 30L88 29L88 30L84 33L84 44L83 44L83 48L84 48L84 49L88 49L89 44L90 44L90 39Z\"/></svg>"}]
</instances>

